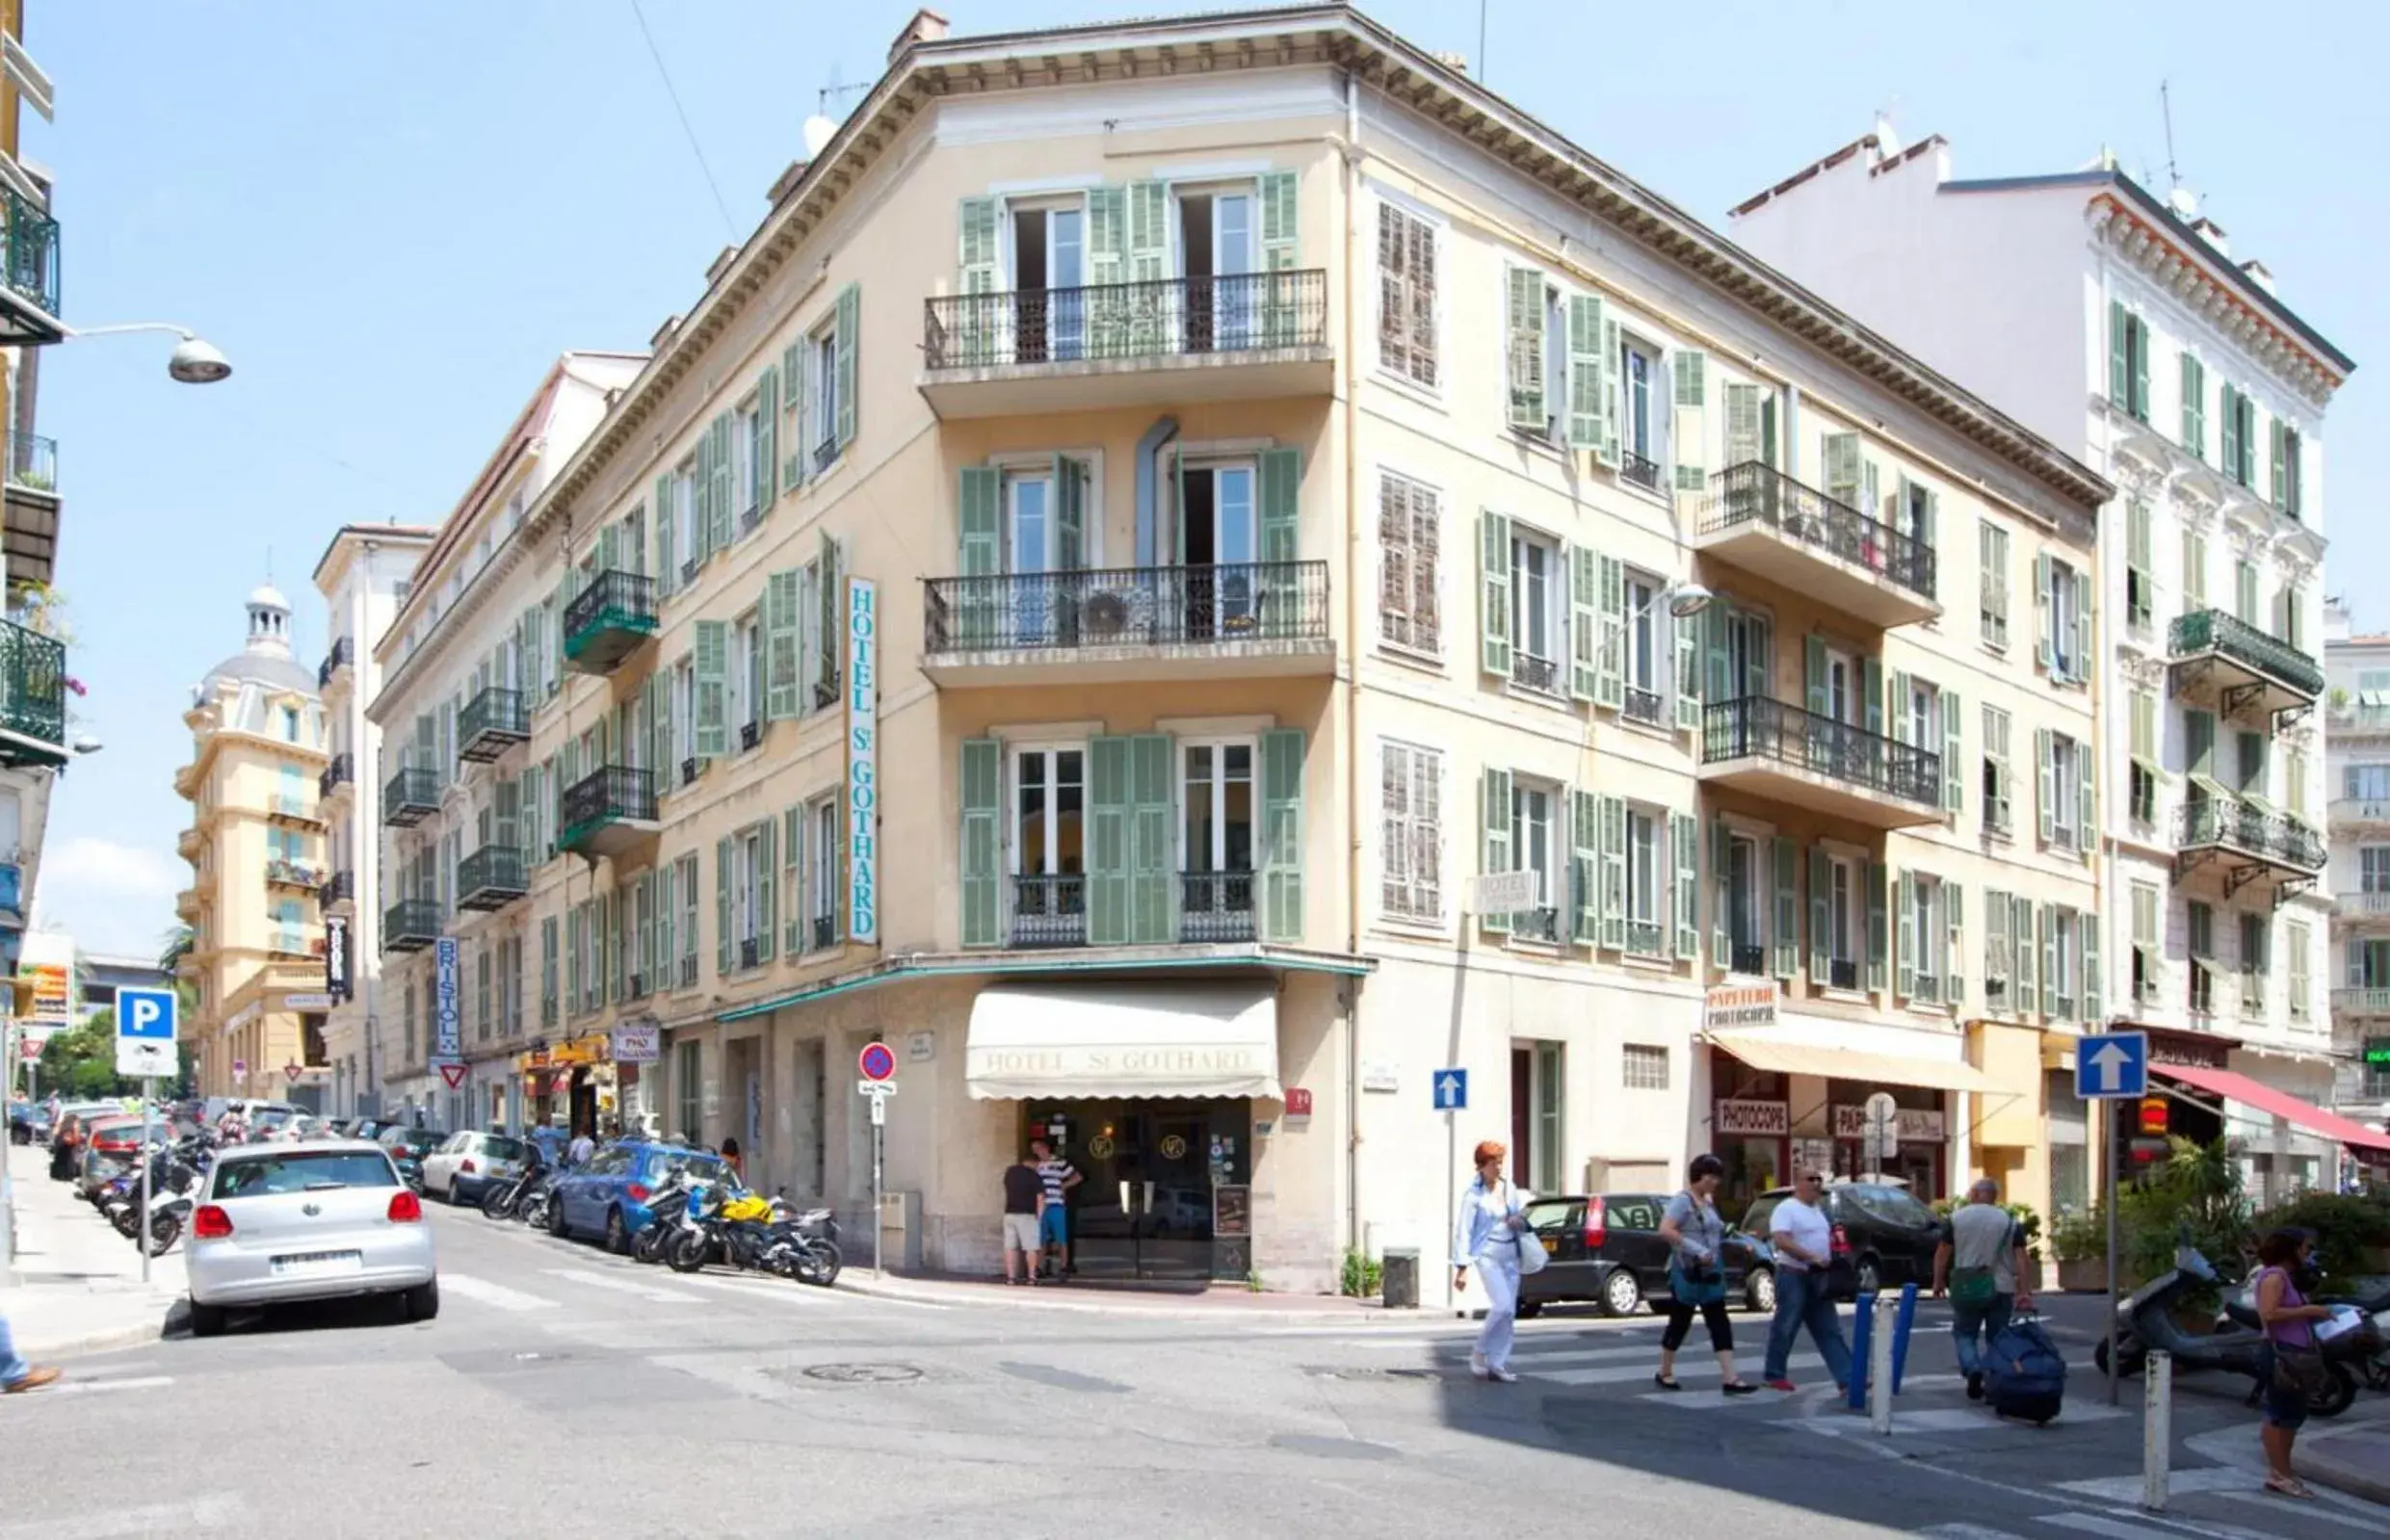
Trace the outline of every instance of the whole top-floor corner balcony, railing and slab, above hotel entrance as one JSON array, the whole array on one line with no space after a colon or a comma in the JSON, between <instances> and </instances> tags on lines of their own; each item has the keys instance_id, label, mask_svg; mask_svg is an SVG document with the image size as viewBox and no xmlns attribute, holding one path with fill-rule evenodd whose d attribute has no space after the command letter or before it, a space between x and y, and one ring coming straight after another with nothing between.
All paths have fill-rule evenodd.
<instances>
[{"instance_id":1,"label":"whole top-floor corner balcony, railing and slab, above hotel entrance","mask_svg":"<svg viewBox=\"0 0 2390 1540\"><path fill-rule=\"evenodd\" d=\"M923 304L920 392L942 418L1324 397L1324 268Z\"/></svg>"}]
</instances>

